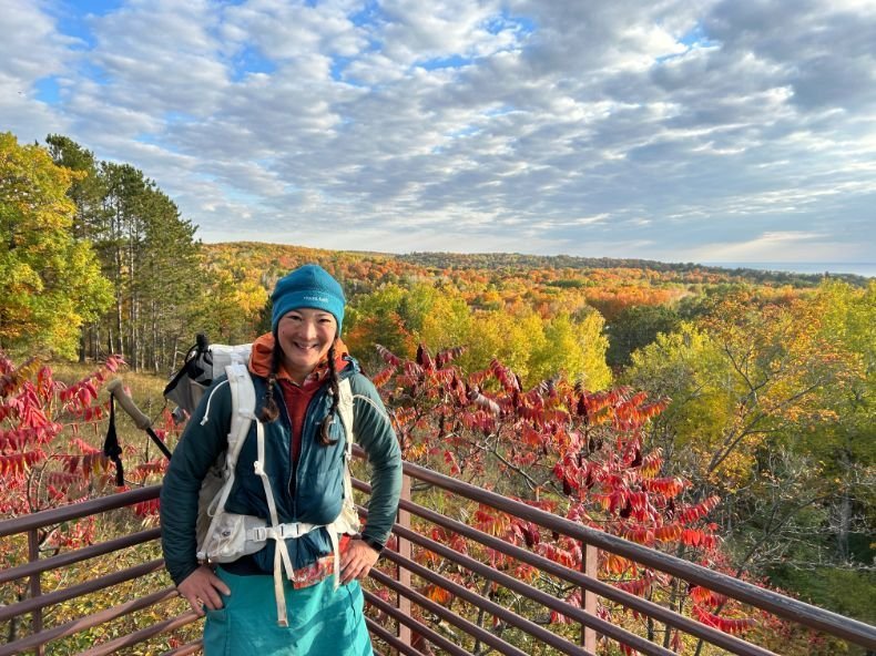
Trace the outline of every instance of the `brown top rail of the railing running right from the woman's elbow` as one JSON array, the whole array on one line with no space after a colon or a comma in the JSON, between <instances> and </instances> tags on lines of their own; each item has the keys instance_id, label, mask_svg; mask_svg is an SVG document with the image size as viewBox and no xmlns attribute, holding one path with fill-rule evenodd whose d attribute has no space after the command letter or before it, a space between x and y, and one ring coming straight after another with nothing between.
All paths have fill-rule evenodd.
<instances>
[{"instance_id":1,"label":"brown top rail of the railing running right from the woman's elbow","mask_svg":"<svg viewBox=\"0 0 876 656\"><path fill-rule=\"evenodd\" d=\"M598 546L603 551L679 576L696 585L702 585L712 592L724 594L734 599L745 602L752 606L773 613L778 617L785 617L811 628L823 631L867 647L868 649L876 649L876 627L858 622L857 619L844 617L837 613L832 613L798 599L757 587L756 585L740 581L739 578L733 578L726 574L712 572L701 565L656 550L651 550L646 546L589 526L583 526L564 517L507 499L495 492L482 490L470 483L458 481L410 462L405 462L403 469L406 474L419 481L432 483L434 485L438 485L460 496L534 522L551 531L557 531L558 533L574 537L575 540L581 540L587 544Z\"/></svg>"}]
</instances>

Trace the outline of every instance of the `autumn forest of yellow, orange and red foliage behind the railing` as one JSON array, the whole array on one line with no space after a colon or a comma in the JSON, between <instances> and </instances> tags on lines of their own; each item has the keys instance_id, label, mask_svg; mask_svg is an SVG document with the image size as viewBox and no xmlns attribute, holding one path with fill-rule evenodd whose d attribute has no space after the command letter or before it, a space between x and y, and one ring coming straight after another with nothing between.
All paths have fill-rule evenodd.
<instances>
[{"instance_id":1,"label":"autumn forest of yellow, orange and red foliage behind the railing","mask_svg":"<svg viewBox=\"0 0 876 656\"><path fill-rule=\"evenodd\" d=\"M876 281L202 244L156 182L60 135L28 145L0 134L2 517L110 493L113 464L95 435L111 370L154 381L139 400L157 413L195 335L251 341L269 327L276 279L308 262L347 293L344 340L407 460L876 623ZM179 427L162 435L174 441ZM160 480L160 454L131 453L140 467L128 485ZM512 517L476 520L580 564L573 545ZM100 531L78 525L43 545ZM24 557L18 546L0 543L3 566ZM707 591L617 560L600 566L623 590L761 633L770 648L836 653ZM3 588L0 603L24 588ZM669 631L649 636L694 653Z\"/></svg>"}]
</instances>

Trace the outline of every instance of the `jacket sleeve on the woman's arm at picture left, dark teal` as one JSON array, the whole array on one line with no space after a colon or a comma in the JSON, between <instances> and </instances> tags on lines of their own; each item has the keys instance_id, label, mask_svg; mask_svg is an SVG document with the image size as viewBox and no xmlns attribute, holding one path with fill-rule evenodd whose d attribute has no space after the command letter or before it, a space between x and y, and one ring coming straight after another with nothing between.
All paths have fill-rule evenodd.
<instances>
[{"instance_id":1,"label":"jacket sleeve on the woman's arm at picture left, dark teal","mask_svg":"<svg viewBox=\"0 0 876 656\"><path fill-rule=\"evenodd\" d=\"M161 547L164 564L177 585L197 566L197 498L201 483L227 449L231 424L231 391L218 379L205 393L189 419L161 489ZM206 410L208 418L201 424Z\"/></svg>"}]
</instances>

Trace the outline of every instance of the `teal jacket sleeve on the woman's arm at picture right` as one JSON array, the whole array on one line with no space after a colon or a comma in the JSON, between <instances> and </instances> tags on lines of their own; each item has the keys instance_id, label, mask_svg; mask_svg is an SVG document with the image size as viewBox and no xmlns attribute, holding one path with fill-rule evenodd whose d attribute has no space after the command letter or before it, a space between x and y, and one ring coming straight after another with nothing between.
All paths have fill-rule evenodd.
<instances>
[{"instance_id":1,"label":"teal jacket sleeve on the woman's arm at picture right","mask_svg":"<svg viewBox=\"0 0 876 656\"><path fill-rule=\"evenodd\" d=\"M371 381L357 375L353 390L353 430L371 468L371 496L363 537L384 545L396 521L401 494L401 449Z\"/></svg>"}]
</instances>

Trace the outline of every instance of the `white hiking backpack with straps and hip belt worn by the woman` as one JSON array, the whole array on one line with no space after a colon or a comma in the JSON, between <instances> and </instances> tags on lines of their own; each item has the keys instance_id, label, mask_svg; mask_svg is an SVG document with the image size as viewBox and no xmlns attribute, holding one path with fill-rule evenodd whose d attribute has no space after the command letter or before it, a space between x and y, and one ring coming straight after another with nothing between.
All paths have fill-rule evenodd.
<instances>
[{"instance_id":1,"label":"white hiking backpack with straps and hip belt worn by the woman","mask_svg":"<svg viewBox=\"0 0 876 656\"><path fill-rule=\"evenodd\" d=\"M264 424L255 416L255 387L246 363L249 360L252 345L208 347L213 356L213 378L222 372L227 376L227 385L232 396L232 418L228 430L228 449L211 468L201 485L197 513L197 558L203 562L230 563L243 555L252 554L265 547L268 540L274 540L274 592L277 598L277 624L287 626L286 599L283 593L283 571L289 581L294 580L292 560L286 547L287 537L299 537L322 529L320 524L305 522L281 523L277 517L276 502L271 482L265 473L265 435ZM210 403L213 394L223 381L211 392L204 418L201 424L210 421ZM340 581L340 550L338 534L354 535L359 531L359 515L353 500L353 483L350 481L349 462L353 455L353 390L349 379L339 381L340 397L338 399L338 413L346 433L346 464L344 471L344 502L340 514L329 524L325 525L332 540L335 554L335 587ZM256 422L257 457L254 463L256 473L261 476L267 499L269 520L252 515L242 515L225 512L225 502L234 485L234 471L237 458L249 433L249 427Z\"/></svg>"}]
</instances>

